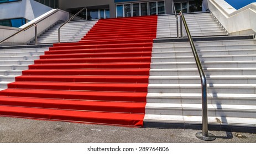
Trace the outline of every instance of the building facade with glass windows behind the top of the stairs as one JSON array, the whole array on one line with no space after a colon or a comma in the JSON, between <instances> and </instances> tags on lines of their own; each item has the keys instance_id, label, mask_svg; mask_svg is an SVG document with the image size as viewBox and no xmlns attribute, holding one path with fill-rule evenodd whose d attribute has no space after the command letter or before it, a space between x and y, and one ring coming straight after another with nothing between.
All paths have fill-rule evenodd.
<instances>
[{"instance_id":1,"label":"building facade with glass windows behind the top of the stairs","mask_svg":"<svg viewBox=\"0 0 256 154\"><path fill-rule=\"evenodd\" d=\"M76 14L86 7L87 11L79 16L87 20L172 14L172 2L173 0L0 0L0 25L19 27L52 8ZM174 0L178 13L180 10L184 13L202 11L201 3L200 0ZM8 10L14 11L10 13ZM28 17L27 12L34 16Z\"/></svg>"}]
</instances>

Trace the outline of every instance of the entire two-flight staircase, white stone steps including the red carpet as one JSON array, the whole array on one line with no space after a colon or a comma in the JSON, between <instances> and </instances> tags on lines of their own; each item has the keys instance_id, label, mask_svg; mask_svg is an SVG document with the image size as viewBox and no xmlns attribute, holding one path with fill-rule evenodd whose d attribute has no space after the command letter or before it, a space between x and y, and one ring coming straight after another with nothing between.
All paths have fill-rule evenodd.
<instances>
[{"instance_id":1,"label":"entire two-flight staircase, white stone steps including the red carpet","mask_svg":"<svg viewBox=\"0 0 256 154\"><path fill-rule=\"evenodd\" d=\"M185 19L207 78L209 124L255 127L255 39L227 36L210 13ZM0 50L0 114L136 127L202 123L191 47L169 38L176 37L174 15L94 24L79 42L69 40L74 30L62 40L70 43L48 49ZM56 42L56 27L40 43Z\"/></svg>"}]
</instances>

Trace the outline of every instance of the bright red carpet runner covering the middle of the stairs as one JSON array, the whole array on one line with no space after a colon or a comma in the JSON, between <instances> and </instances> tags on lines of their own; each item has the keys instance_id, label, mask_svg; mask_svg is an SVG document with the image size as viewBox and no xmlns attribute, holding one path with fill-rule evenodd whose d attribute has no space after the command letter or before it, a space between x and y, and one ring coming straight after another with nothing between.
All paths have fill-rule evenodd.
<instances>
[{"instance_id":1,"label":"bright red carpet runner covering the middle of the stairs","mask_svg":"<svg viewBox=\"0 0 256 154\"><path fill-rule=\"evenodd\" d=\"M2 116L143 126L157 16L102 19L0 91Z\"/></svg>"}]
</instances>

